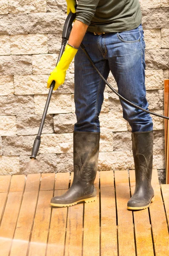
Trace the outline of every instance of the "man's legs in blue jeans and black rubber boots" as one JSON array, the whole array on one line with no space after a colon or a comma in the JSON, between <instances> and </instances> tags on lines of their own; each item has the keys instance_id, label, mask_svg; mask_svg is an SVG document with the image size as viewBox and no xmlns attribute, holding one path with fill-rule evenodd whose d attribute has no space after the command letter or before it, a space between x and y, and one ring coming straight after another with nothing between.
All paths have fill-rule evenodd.
<instances>
[{"instance_id":1,"label":"man's legs in blue jeans and black rubber boots","mask_svg":"<svg viewBox=\"0 0 169 256\"><path fill-rule=\"evenodd\" d=\"M83 38L83 44L105 79L108 78L109 72L112 72L120 95L148 109L142 25L119 33L94 35L92 32L87 32ZM94 70L83 50L79 49L74 60L74 102L77 117L77 123L74 125L75 176L70 192L68 190L67 195L53 199L53 205L59 206L62 200L63 206L68 206L77 201L85 201L84 198L91 198L92 201L92 198L96 197L93 186L97 173L100 139L99 114L104 89L105 83ZM132 127L132 150L135 161L136 188L128 202L128 209L144 209L149 207L154 199L151 186L152 118L148 113L123 100L120 102L123 108L123 118ZM82 184L82 180L85 184Z\"/></svg>"}]
</instances>

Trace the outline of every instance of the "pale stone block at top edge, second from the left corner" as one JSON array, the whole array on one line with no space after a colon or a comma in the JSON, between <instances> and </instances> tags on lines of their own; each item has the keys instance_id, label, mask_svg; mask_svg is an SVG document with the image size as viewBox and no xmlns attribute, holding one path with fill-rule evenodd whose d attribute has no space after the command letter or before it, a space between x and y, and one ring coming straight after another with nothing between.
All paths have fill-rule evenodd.
<instances>
[{"instance_id":1,"label":"pale stone block at top edge, second from the left corner","mask_svg":"<svg viewBox=\"0 0 169 256\"><path fill-rule=\"evenodd\" d=\"M46 12L46 0L10 0L9 13Z\"/></svg>"}]
</instances>

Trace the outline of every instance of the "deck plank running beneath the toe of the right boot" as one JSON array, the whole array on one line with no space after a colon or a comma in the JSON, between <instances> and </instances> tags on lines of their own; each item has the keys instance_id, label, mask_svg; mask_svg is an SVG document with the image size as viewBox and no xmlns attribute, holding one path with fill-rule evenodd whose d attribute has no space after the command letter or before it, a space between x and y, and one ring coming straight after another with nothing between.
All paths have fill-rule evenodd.
<instances>
[{"instance_id":1,"label":"deck plank running beneath the toe of the right boot","mask_svg":"<svg viewBox=\"0 0 169 256\"><path fill-rule=\"evenodd\" d=\"M135 192L135 170L129 171L132 195ZM137 256L154 256L149 210L133 211Z\"/></svg>"}]
</instances>

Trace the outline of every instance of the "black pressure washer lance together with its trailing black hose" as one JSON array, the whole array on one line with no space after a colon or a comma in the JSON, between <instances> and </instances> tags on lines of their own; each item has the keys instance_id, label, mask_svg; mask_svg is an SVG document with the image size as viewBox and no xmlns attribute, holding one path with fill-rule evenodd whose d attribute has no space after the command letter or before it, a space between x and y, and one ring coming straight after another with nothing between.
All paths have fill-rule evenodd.
<instances>
[{"instance_id":1,"label":"black pressure washer lance together with its trailing black hose","mask_svg":"<svg viewBox=\"0 0 169 256\"><path fill-rule=\"evenodd\" d=\"M70 12L69 15L67 16L66 18L66 21L65 21L65 24L64 24L64 27L63 27L63 33L62 33L62 46L61 46L61 49L60 49L60 53L59 53L59 57L58 57L58 60L57 60L57 63L60 61L60 58L64 52L64 49L65 49L65 46L67 44L67 41L69 40L69 35L70 35L70 32L72 30L72 23L73 23L73 20L75 19L76 17L76 13L72 13ZM95 66L95 64L93 63L92 59L90 58L88 52L86 51L85 47L83 44L80 44L80 47L81 49L83 49L83 51L85 52L86 56L88 57L90 63L92 64L92 66L95 68L95 70L97 71L97 73L99 74L99 76L103 79L103 81L109 86L109 88L117 95L119 96L120 99L122 99L123 101L127 102L128 104L134 106L135 108L138 108L138 109L141 109L142 111L145 111L149 114L152 114L154 116L159 116L161 118L164 118L164 119L168 119L169 120L169 117L168 116L162 116L160 114L157 114L157 113L154 113L154 112L151 112L151 111L148 111L144 108L141 108L137 105L135 105L134 103L130 102L129 100L123 98L123 96L121 96L119 93L117 93L117 91L106 81L106 79L104 79L104 77L102 76L102 74L99 72L99 70L97 69L97 67ZM57 65L57 64L56 64ZM48 94L48 98L46 100L46 105L45 105L45 109L43 111L43 116L42 116L42 120L41 120L41 123L40 123L40 128L39 128L39 131L38 131L38 134L37 134L37 137L36 139L34 140L34 145L33 145L33 148L32 148L32 155L31 155L31 159L34 158L36 159L36 155L37 155L37 152L39 150L39 147L40 147L40 136L42 134L42 129L43 129L43 125L44 125L44 122L45 122L45 118L46 118L46 113L48 111L48 107L49 107L49 102L50 102L50 99L51 99L51 96L52 96L52 91L53 91L53 88L54 88L54 85L55 85L55 81L52 81L51 83L51 86L50 86L50 90L49 90L49 94Z\"/></svg>"}]
</instances>

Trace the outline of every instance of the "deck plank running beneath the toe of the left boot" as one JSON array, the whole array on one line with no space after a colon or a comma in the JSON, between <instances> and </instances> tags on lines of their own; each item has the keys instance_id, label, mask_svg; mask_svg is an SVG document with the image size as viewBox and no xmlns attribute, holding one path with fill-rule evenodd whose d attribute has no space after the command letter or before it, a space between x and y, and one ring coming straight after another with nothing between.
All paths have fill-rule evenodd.
<instances>
[{"instance_id":1,"label":"deck plank running beneath the toe of the left boot","mask_svg":"<svg viewBox=\"0 0 169 256\"><path fill-rule=\"evenodd\" d=\"M63 178L61 178L61 175ZM60 183L61 180L61 183ZM57 189L61 187L62 189ZM65 188L65 189L63 189ZM69 188L69 173L56 174L54 196L63 195ZM64 253L67 207L52 207L49 241L46 256L62 256Z\"/></svg>"}]
</instances>

